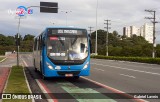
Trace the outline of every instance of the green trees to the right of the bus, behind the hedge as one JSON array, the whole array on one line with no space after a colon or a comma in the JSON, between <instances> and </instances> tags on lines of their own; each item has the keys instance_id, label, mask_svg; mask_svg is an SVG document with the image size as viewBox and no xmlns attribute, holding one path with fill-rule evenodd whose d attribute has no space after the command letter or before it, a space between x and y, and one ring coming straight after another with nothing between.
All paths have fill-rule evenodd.
<instances>
[{"instance_id":1,"label":"green trees to the right of the bus, behind the hedge","mask_svg":"<svg viewBox=\"0 0 160 102\"><path fill-rule=\"evenodd\" d=\"M98 30L98 55L106 55L106 34L104 30ZM95 51L95 35L91 34L92 52ZM143 37L133 35L130 38L121 36L117 31L108 34L109 56L126 57L152 57L152 44L148 43ZM160 45L156 47L156 57L160 57Z\"/></svg>"}]
</instances>

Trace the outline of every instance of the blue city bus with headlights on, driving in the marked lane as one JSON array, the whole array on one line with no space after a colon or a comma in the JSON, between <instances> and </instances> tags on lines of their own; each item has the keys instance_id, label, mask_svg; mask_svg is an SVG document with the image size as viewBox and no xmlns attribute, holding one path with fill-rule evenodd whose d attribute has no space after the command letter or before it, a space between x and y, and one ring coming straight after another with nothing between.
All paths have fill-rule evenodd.
<instances>
[{"instance_id":1,"label":"blue city bus with headlights on, driving in the marked lane","mask_svg":"<svg viewBox=\"0 0 160 102\"><path fill-rule=\"evenodd\" d=\"M89 76L90 36L86 29L47 27L34 39L33 63L43 78Z\"/></svg>"}]
</instances>

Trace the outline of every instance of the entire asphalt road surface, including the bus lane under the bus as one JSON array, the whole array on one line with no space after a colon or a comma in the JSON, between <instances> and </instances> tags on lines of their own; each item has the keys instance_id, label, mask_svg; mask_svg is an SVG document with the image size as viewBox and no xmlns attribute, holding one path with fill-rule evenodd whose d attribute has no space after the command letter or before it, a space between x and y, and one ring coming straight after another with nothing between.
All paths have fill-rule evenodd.
<instances>
[{"instance_id":1,"label":"entire asphalt road surface, including the bus lane under the bus","mask_svg":"<svg viewBox=\"0 0 160 102\"><path fill-rule=\"evenodd\" d=\"M44 92L37 83L40 82L43 84L42 86L48 90L47 93L53 94L53 97L59 96L59 94L56 93L63 93L65 96L74 97L67 99L67 101L70 102L135 102L143 100L108 98L108 96L103 93L160 92L160 65L91 59L91 75L88 77L81 77L79 80L68 78L50 78L48 80L42 80L40 73L34 71L32 55L21 55L21 59L25 63L25 72L32 92ZM95 95L94 99L83 100L82 98L76 99L77 94L70 94L76 92L98 94ZM98 97L99 99L96 99L97 96L102 96L102 98ZM81 97L84 96L82 95ZM66 102L66 99L63 98L60 97L53 101ZM47 100L36 101L44 102ZM159 100L148 101L158 102Z\"/></svg>"}]
</instances>

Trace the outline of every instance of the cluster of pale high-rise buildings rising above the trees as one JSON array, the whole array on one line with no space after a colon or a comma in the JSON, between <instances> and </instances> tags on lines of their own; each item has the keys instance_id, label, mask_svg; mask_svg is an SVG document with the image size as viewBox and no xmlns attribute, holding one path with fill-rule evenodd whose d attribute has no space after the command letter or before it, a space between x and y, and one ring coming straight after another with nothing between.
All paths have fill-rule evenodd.
<instances>
[{"instance_id":1,"label":"cluster of pale high-rise buildings rising above the trees","mask_svg":"<svg viewBox=\"0 0 160 102\"><path fill-rule=\"evenodd\" d=\"M123 35L132 37L133 35L144 37L149 43L153 43L153 26L145 23L140 28L136 26L123 27Z\"/></svg>"}]
</instances>

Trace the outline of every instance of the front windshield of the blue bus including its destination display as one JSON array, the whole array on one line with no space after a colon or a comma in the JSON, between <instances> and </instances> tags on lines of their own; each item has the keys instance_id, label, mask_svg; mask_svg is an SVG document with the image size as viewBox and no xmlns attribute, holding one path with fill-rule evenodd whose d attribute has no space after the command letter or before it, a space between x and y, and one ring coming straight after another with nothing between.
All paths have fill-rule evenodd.
<instances>
[{"instance_id":1,"label":"front windshield of the blue bus including its destination display","mask_svg":"<svg viewBox=\"0 0 160 102\"><path fill-rule=\"evenodd\" d=\"M88 56L86 30L48 29L47 55L52 60L83 60Z\"/></svg>"}]
</instances>

